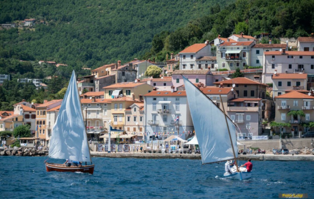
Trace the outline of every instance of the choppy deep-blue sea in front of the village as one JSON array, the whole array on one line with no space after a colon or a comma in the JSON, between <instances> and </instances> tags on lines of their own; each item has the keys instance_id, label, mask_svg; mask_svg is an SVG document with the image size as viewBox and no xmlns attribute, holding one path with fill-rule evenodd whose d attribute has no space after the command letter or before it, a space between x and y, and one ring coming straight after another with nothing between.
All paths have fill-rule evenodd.
<instances>
[{"instance_id":1,"label":"choppy deep-blue sea in front of the village","mask_svg":"<svg viewBox=\"0 0 314 199\"><path fill-rule=\"evenodd\" d=\"M0 198L314 198L314 162L252 161L252 178L238 181L200 160L93 158L90 175L46 172L46 159L0 156Z\"/></svg>"}]
</instances>

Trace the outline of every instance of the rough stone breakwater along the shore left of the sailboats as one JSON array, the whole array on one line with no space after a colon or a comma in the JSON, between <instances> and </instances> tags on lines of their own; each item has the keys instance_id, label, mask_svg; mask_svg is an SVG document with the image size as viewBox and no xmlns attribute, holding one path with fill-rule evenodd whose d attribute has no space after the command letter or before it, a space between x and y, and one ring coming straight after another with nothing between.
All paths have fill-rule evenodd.
<instances>
[{"instance_id":1,"label":"rough stone breakwater along the shore left of the sailboats","mask_svg":"<svg viewBox=\"0 0 314 199\"><path fill-rule=\"evenodd\" d=\"M48 151L38 151L36 149L23 149L23 148L9 148L2 149L0 155L8 156L47 156Z\"/></svg>"}]
</instances>

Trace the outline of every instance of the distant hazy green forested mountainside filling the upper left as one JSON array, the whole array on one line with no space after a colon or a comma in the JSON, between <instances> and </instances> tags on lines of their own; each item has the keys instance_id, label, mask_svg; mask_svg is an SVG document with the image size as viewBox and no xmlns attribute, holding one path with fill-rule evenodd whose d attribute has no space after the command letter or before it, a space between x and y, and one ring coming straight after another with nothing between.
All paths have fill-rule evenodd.
<instances>
[{"instance_id":1,"label":"distant hazy green forested mountainside filling the upper left","mask_svg":"<svg viewBox=\"0 0 314 199\"><path fill-rule=\"evenodd\" d=\"M154 34L210 14L227 0L0 1L0 24L35 18L35 29L0 31L0 56L96 68L151 48ZM228 1L232 2L232 1Z\"/></svg>"}]
</instances>

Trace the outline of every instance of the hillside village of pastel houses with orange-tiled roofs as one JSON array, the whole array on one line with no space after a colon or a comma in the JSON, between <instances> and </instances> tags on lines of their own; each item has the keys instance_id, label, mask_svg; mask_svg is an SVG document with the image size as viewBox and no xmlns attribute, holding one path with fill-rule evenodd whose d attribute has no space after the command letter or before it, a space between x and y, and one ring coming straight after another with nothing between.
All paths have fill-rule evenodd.
<instances>
[{"instance_id":1,"label":"hillside village of pastel houses with orange-tiled roofs","mask_svg":"<svg viewBox=\"0 0 314 199\"><path fill-rule=\"evenodd\" d=\"M290 47L288 42L272 44L271 40L260 44L244 34L219 35L171 54L166 62L117 60L87 69L91 75L78 77L77 83L88 138L106 141L109 126L124 130L111 139L128 144L164 140L173 134L190 138L195 132L182 76L218 107L225 107L240 129L239 140L299 138L314 128L313 34L299 37L296 51ZM151 65L162 68L160 78L145 76ZM0 83L5 79L10 79L8 74L0 75ZM46 86L39 79L18 81ZM14 104L13 112L0 112L0 131L29 124L30 143L49 147L61 102Z\"/></svg>"}]
</instances>

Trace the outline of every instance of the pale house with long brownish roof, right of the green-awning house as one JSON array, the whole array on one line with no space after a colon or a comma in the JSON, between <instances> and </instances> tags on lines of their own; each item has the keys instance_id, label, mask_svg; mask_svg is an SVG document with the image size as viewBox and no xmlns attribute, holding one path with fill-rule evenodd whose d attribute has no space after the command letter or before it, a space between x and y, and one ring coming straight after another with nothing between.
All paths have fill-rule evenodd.
<instances>
[{"instance_id":1,"label":"pale house with long brownish roof, right of the green-awning house","mask_svg":"<svg viewBox=\"0 0 314 199\"><path fill-rule=\"evenodd\" d=\"M263 66L264 52L279 51L283 48L288 50L288 45L285 44L255 44L251 50L251 62L250 66Z\"/></svg>"}]
</instances>

